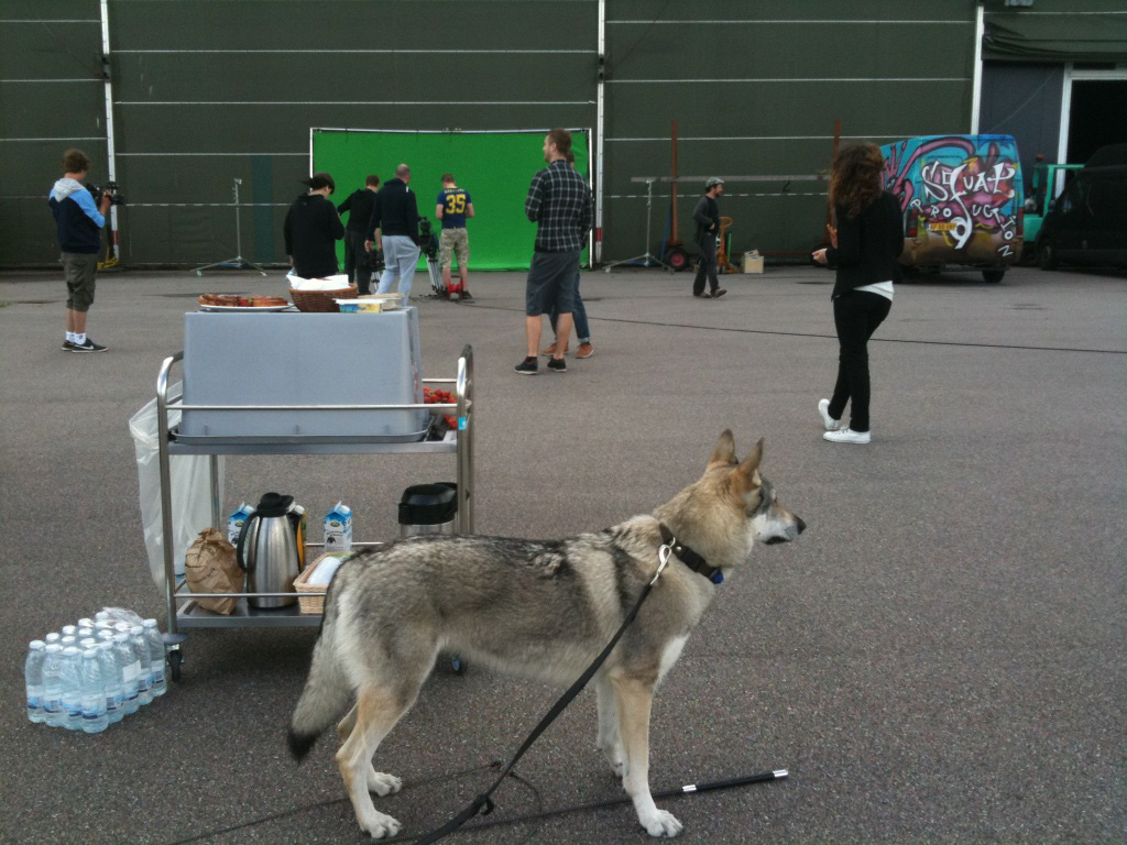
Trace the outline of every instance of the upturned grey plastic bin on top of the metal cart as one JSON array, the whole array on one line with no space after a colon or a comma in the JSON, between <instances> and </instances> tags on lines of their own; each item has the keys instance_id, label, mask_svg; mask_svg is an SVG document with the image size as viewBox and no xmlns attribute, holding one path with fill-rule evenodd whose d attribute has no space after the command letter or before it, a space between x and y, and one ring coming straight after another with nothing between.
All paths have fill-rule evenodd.
<instances>
[{"instance_id":1,"label":"upturned grey plastic bin on top of the metal cart","mask_svg":"<svg viewBox=\"0 0 1127 845\"><path fill-rule=\"evenodd\" d=\"M418 310L184 315L184 403L423 402ZM230 444L385 442L426 436L425 409L193 411L178 439Z\"/></svg>"}]
</instances>

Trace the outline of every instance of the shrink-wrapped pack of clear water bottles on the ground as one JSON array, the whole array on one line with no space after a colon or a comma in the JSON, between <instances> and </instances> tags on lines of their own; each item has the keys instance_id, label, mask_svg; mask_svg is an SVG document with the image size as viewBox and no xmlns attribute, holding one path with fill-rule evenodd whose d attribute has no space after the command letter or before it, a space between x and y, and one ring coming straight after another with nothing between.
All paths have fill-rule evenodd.
<instances>
[{"instance_id":1,"label":"shrink-wrapped pack of clear water bottles on the ground","mask_svg":"<svg viewBox=\"0 0 1127 845\"><path fill-rule=\"evenodd\" d=\"M157 620L105 607L33 640L24 679L30 721L100 733L168 692L165 641Z\"/></svg>"}]
</instances>

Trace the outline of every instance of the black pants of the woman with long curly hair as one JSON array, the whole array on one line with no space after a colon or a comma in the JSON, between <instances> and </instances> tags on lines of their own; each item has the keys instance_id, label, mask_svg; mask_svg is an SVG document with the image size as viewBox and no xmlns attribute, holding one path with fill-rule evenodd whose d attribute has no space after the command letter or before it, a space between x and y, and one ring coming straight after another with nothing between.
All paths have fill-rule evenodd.
<instances>
[{"instance_id":1,"label":"black pants of the woman with long curly hair","mask_svg":"<svg viewBox=\"0 0 1127 845\"><path fill-rule=\"evenodd\" d=\"M841 419L850 404L849 427L869 430L869 338L888 317L891 300L868 291L851 291L834 300L837 328L837 383L829 400L829 416Z\"/></svg>"}]
</instances>

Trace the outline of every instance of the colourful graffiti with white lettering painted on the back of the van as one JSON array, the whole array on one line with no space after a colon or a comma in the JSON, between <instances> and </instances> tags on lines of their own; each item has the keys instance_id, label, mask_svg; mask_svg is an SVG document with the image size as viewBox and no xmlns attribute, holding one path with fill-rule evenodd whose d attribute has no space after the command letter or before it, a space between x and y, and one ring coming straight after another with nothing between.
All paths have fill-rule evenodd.
<instances>
[{"instance_id":1,"label":"colourful graffiti with white lettering painted on the back of the van","mask_svg":"<svg viewBox=\"0 0 1127 845\"><path fill-rule=\"evenodd\" d=\"M1020 234L1015 154L1003 153L993 137L982 139L987 141L982 146L974 137L912 139L886 146L885 185L902 208L914 210L929 232L951 249L962 250L980 235L999 256L1011 258L1012 241Z\"/></svg>"}]
</instances>

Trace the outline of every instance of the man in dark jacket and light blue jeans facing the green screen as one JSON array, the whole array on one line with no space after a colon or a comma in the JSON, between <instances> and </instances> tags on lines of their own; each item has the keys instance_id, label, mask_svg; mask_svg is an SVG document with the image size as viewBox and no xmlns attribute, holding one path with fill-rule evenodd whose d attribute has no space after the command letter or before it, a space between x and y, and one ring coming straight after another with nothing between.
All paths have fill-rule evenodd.
<instances>
[{"instance_id":1,"label":"man in dark jacket and light blue jeans facing the green screen","mask_svg":"<svg viewBox=\"0 0 1127 845\"><path fill-rule=\"evenodd\" d=\"M383 250L383 276L378 293L393 293L397 286L406 305L411 297L415 265L419 260L419 208L415 194L407 187L411 169L396 168L396 178L388 179L375 195L372 220L367 224L364 248Z\"/></svg>"}]
</instances>

